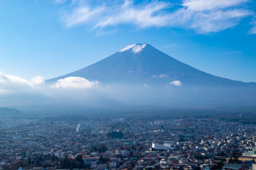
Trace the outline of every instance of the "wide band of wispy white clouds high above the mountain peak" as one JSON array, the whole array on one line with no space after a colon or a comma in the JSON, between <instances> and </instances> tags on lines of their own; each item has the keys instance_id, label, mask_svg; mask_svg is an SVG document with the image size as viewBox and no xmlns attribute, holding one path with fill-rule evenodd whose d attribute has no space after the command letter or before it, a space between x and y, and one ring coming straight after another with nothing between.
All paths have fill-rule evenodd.
<instances>
[{"instance_id":1,"label":"wide band of wispy white clouds high above the mountain peak","mask_svg":"<svg viewBox=\"0 0 256 170\"><path fill-rule=\"evenodd\" d=\"M179 4L181 7L164 1L140 4L131 0L104 4L90 2L72 1L76 5L63 12L64 24L67 27L86 24L93 29L119 24L131 24L138 28L179 27L204 34L233 27L242 18L254 14L244 7L248 0L184 0Z\"/></svg>"}]
</instances>

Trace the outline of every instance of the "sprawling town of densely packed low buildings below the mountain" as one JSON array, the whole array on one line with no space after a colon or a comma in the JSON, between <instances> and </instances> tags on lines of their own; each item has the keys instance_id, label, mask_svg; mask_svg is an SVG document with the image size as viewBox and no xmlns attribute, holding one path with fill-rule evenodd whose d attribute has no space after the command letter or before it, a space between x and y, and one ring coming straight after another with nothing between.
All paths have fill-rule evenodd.
<instances>
[{"instance_id":1,"label":"sprawling town of densely packed low buildings below the mountain","mask_svg":"<svg viewBox=\"0 0 256 170\"><path fill-rule=\"evenodd\" d=\"M255 125L217 119L0 122L2 170L256 170Z\"/></svg>"}]
</instances>

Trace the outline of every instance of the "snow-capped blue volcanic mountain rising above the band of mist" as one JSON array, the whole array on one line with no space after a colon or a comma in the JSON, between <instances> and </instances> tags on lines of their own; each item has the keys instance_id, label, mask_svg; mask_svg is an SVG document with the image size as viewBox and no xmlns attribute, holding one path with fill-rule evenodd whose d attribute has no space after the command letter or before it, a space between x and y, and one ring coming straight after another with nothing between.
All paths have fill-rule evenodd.
<instances>
[{"instance_id":1,"label":"snow-capped blue volcanic mountain rising above the band of mist","mask_svg":"<svg viewBox=\"0 0 256 170\"><path fill-rule=\"evenodd\" d=\"M184 64L149 44L130 44L110 57L78 71L46 80L79 76L102 83L162 84L180 80L183 85L244 84L202 72ZM253 84L253 83L252 83Z\"/></svg>"}]
</instances>

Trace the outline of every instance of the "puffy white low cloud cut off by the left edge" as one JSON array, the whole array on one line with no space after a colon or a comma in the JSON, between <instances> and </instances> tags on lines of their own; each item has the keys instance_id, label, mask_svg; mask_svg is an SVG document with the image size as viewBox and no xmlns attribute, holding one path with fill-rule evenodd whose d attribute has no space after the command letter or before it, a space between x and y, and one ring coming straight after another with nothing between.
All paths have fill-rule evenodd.
<instances>
[{"instance_id":1,"label":"puffy white low cloud cut off by the left edge","mask_svg":"<svg viewBox=\"0 0 256 170\"><path fill-rule=\"evenodd\" d=\"M33 84L17 76L5 75L0 72L0 92L9 90L31 89Z\"/></svg>"}]
</instances>

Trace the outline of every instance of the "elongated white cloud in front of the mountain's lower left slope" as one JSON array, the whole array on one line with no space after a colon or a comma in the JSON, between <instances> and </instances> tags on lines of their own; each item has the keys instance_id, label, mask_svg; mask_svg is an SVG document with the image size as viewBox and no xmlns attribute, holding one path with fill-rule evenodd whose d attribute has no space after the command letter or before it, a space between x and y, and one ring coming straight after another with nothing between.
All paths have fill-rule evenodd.
<instances>
[{"instance_id":1,"label":"elongated white cloud in front of the mountain's lower left slope","mask_svg":"<svg viewBox=\"0 0 256 170\"><path fill-rule=\"evenodd\" d=\"M98 84L97 81L89 81L82 77L67 77L64 79L57 80L57 82L50 86L51 88L77 88L77 89L86 89L92 88Z\"/></svg>"}]
</instances>

